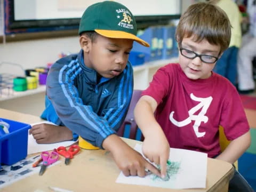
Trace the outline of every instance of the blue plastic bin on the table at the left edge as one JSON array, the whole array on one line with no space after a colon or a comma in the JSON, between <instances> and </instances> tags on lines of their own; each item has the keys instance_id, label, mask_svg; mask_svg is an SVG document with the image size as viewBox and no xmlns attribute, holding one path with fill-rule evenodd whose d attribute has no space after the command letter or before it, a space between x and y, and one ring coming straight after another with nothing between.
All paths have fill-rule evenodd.
<instances>
[{"instance_id":1,"label":"blue plastic bin on the table at the left edge","mask_svg":"<svg viewBox=\"0 0 256 192\"><path fill-rule=\"evenodd\" d=\"M26 158L28 154L29 124L0 118L10 125L9 132L0 137L0 168L1 164L12 165Z\"/></svg>"}]
</instances>

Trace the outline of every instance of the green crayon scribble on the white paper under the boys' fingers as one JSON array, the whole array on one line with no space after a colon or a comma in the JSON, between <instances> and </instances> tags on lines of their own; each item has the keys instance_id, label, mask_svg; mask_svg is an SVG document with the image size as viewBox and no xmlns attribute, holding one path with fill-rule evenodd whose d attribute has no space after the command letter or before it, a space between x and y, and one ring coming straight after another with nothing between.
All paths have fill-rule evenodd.
<instances>
[{"instance_id":1,"label":"green crayon scribble on the white paper under the boys' fingers","mask_svg":"<svg viewBox=\"0 0 256 192\"><path fill-rule=\"evenodd\" d=\"M161 170L160 165L157 165L157 169ZM180 170L180 162L171 162L171 161L167 161L166 164L166 176L164 179L162 179L161 177L158 177L155 174L152 174L151 179L153 181L169 181L171 178L175 179L176 175L178 174Z\"/></svg>"}]
</instances>

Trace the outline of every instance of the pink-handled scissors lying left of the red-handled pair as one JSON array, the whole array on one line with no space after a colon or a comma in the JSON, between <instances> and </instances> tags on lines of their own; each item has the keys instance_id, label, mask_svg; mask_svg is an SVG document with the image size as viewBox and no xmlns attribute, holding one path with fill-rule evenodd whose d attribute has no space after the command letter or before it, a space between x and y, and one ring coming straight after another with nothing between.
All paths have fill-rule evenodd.
<instances>
[{"instance_id":1,"label":"pink-handled scissors lying left of the red-handled pair","mask_svg":"<svg viewBox=\"0 0 256 192\"><path fill-rule=\"evenodd\" d=\"M41 153L41 157L43 159L43 165L41 166L41 169L39 171L39 175L44 174L46 166L51 165L51 164L58 161L59 154L56 153L55 151L52 151L51 153L49 153L48 151L44 151L44 152Z\"/></svg>"}]
</instances>

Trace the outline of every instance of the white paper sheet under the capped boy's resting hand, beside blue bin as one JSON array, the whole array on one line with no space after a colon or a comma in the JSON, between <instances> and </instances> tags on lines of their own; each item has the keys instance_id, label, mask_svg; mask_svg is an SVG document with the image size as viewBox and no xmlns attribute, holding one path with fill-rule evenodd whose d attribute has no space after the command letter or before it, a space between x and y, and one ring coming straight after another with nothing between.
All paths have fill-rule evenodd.
<instances>
[{"instance_id":1,"label":"white paper sheet under the capped boy's resting hand, beside blue bin","mask_svg":"<svg viewBox=\"0 0 256 192\"><path fill-rule=\"evenodd\" d=\"M44 121L44 122L39 122L39 123L33 123L30 124L31 126L41 124L41 123L47 123L47 124L52 124L55 125L52 122L49 121ZM62 142L57 142L57 143L51 143L51 144L38 144L36 140L33 138L33 135L28 134L28 155L29 154L34 154L42 151L48 151L48 150L53 150L56 149L60 146L70 146L74 144L76 141L62 141Z\"/></svg>"}]
</instances>

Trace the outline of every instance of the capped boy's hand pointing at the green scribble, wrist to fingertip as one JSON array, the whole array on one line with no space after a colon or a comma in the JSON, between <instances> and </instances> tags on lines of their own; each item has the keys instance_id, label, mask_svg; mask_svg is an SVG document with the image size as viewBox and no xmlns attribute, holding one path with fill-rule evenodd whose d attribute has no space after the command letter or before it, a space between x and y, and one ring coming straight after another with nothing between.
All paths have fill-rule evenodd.
<instances>
[{"instance_id":1,"label":"capped boy's hand pointing at the green scribble, wrist to fingertip","mask_svg":"<svg viewBox=\"0 0 256 192\"><path fill-rule=\"evenodd\" d=\"M160 176L158 169L150 164L143 156L127 145L121 138L113 134L107 137L103 148L110 150L119 169L125 176L138 175L146 176L146 169Z\"/></svg>"}]
</instances>

